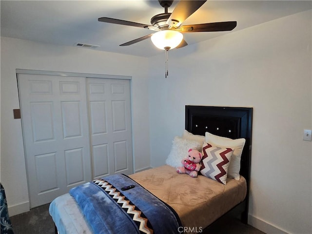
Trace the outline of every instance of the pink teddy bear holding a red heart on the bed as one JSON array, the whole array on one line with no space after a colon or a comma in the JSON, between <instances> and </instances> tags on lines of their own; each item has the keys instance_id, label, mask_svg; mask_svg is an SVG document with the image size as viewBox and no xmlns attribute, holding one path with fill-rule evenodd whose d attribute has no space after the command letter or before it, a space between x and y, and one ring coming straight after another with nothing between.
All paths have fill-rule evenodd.
<instances>
[{"instance_id":1,"label":"pink teddy bear holding a red heart on the bed","mask_svg":"<svg viewBox=\"0 0 312 234\"><path fill-rule=\"evenodd\" d=\"M183 167L176 168L176 172L179 174L188 174L193 178L197 177L197 173L200 170L200 161L202 154L198 150L189 149L189 156L182 159Z\"/></svg>"}]
</instances>

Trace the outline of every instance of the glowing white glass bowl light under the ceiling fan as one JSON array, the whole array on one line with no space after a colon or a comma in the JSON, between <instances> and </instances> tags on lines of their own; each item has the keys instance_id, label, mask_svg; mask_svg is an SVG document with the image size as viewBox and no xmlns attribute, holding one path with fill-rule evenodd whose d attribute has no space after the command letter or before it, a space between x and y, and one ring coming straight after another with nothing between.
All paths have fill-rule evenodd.
<instances>
[{"instance_id":1,"label":"glowing white glass bowl light under the ceiling fan","mask_svg":"<svg viewBox=\"0 0 312 234\"><path fill-rule=\"evenodd\" d=\"M181 43L183 34L174 30L162 30L154 33L151 39L157 48L165 50L169 47L171 50Z\"/></svg>"}]
</instances>

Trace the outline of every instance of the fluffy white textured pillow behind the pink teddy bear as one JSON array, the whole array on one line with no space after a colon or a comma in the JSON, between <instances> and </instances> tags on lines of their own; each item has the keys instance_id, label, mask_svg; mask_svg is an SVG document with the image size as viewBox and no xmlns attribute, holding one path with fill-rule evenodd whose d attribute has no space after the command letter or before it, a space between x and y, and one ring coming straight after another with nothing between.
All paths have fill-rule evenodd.
<instances>
[{"instance_id":1,"label":"fluffy white textured pillow behind the pink teddy bear","mask_svg":"<svg viewBox=\"0 0 312 234\"><path fill-rule=\"evenodd\" d=\"M172 141L172 147L170 154L166 159L166 164L172 167L181 167L182 159L188 156L189 149L201 151L202 143L195 140L183 139L181 137L175 137Z\"/></svg>"}]
</instances>

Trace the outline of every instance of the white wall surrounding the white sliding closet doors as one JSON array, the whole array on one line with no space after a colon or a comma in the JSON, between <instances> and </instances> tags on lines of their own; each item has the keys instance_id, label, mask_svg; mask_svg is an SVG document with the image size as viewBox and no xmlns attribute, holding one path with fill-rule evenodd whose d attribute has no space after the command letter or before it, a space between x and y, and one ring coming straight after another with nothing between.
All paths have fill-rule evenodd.
<instances>
[{"instance_id":1,"label":"white wall surrounding the white sliding closet doors","mask_svg":"<svg viewBox=\"0 0 312 234\"><path fill-rule=\"evenodd\" d=\"M139 67L139 69L138 69ZM132 76L135 171L150 166L147 59L1 37L1 183L9 213L29 210L16 69Z\"/></svg>"}]
</instances>

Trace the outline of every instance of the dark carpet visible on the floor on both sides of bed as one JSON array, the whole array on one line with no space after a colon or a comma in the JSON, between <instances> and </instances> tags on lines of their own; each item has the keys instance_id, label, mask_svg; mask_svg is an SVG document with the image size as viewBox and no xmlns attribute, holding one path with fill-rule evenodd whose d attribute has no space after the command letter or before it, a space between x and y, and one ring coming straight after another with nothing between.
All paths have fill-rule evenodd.
<instances>
[{"instance_id":1,"label":"dark carpet visible on the floor on both sides of bed","mask_svg":"<svg viewBox=\"0 0 312 234\"><path fill-rule=\"evenodd\" d=\"M15 234L55 234L54 222L49 214L49 204L10 217ZM196 230L194 230L196 231ZM235 218L223 218L202 234L265 234Z\"/></svg>"}]
</instances>

